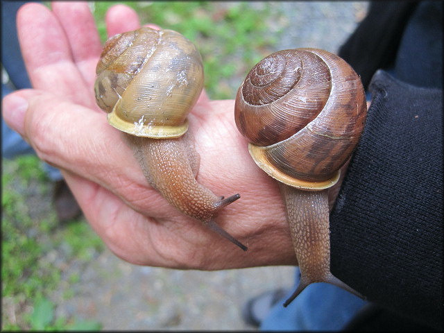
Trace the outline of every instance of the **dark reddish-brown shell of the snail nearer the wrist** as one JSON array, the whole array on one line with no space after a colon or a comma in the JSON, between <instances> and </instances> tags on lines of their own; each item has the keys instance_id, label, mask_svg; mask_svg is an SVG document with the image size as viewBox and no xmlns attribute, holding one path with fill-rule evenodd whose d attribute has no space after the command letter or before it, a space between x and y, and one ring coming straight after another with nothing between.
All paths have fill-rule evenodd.
<instances>
[{"instance_id":1,"label":"dark reddish-brown shell of the snail nearer the wrist","mask_svg":"<svg viewBox=\"0 0 444 333\"><path fill-rule=\"evenodd\" d=\"M292 187L334 185L364 128L359 76L321 49L278 51L253 67L237 92L234 117L256 164Z\"/></svg>"}]
</instances>

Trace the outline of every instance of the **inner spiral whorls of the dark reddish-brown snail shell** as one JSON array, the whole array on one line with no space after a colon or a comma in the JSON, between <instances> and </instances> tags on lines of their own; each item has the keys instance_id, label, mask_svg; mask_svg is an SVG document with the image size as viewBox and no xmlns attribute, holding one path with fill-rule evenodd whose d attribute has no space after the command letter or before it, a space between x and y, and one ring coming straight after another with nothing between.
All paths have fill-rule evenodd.
<instances>
[{"instance_id":1,"label":"inner spiral whorls of the dark reddish-brown snail shell","mask_svg":"<svg viewBox=\"0 0 444 333\"><path fill-rule=\"evenodd\" d=\"M330 81L327 65L314 53L302 49L273 53L253 67L239 88L237 127L258 146L287 139L321 112Z\"/></svg>"}]
</instances>

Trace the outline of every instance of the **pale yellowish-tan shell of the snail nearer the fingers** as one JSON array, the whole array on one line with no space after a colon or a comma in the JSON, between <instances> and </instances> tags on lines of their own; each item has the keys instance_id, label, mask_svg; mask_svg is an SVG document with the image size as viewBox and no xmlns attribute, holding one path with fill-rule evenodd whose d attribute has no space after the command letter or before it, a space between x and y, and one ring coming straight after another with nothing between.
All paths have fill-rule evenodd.
<instances>
[{"instance_id":1,"label":"pale yellowish-tan shell of the snail nearer the fingers","mask_svg":"<svg viewBox=\"0 0 444 333\"><path fill-rule=\"evenodd\" d=\"M203 88L196 46L176 31L148 27L111 37L96 75L96 101L108 122L139 137L183 135Z\"/></svg>"}]
</instances>

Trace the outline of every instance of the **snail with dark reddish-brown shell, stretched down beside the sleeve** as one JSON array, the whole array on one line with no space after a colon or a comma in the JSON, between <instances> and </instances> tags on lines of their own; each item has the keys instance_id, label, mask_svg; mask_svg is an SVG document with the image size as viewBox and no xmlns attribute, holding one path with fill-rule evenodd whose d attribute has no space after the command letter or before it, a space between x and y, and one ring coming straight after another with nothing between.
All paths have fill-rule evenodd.
<instances>
[{"instance_id":1,"label":"snail with dark reddish-brown shell, stretched down beside the sleeve","mask_svg":"<svg viewBox=\"0 0 444 333\"><path fill-rule=\"evenodd\" d=\"M327 194L359 142L366 113L359 76L321 49L272 53L238 89L237 128L257 166L278 180L300 267L300 282L284 307L314 282L363 298L330 272Z\"/></svg>"}]
</instances>

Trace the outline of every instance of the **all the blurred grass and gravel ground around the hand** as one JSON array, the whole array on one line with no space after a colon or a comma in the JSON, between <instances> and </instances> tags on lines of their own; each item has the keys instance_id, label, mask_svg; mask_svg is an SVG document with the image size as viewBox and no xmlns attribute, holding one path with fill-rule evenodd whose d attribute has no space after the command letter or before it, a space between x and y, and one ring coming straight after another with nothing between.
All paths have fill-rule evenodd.
<instances>
[{"instance_id":1,"label":"all the blurred grass and gravel ground around the hand","mask_svg":"<svg viewBox=\"0 0 444 333\"><path fill-rule=\"evenodd\" d=\"M103 42L105 12L115 3L89 2ZM251 67L275 51L336 53L368 8L366 1L120 3L142 24L196 44L211 99L234 99ZM290 266L203 272L128 264L83 217L58 222L51 182L35 155L2 158L1 177L2 330L251 330L242 305L292 287Z\"/></svg>"}]
</instances>

